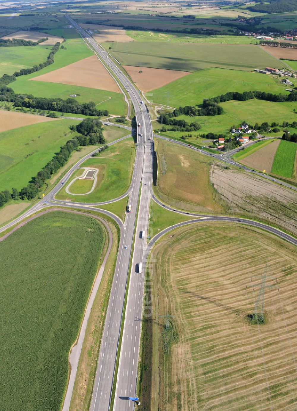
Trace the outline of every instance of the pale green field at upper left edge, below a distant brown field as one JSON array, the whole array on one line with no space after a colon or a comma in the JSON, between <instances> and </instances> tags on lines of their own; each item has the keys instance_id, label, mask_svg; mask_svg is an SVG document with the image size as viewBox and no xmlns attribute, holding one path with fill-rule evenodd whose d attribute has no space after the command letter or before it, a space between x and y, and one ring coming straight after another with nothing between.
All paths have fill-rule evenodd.
<instances>
[{"instance_id":1,"label":"pale green field at upper left edge, below a distant brown field","mask_svg":"<svg viewBox=\"0 0 297 411\"><path fill-rule=\"evenodd\" d=\"M52 46L1 47L0 77L46 61Z\"/></svg>"}]
</instances>

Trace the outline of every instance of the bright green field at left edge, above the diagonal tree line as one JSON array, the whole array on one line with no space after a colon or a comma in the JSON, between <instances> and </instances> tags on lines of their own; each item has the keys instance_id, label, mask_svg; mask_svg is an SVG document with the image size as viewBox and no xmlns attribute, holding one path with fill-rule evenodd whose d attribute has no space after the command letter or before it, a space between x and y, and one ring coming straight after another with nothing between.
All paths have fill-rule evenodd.
<instances>
[{"instance_id":1,"label":"bright green field at left edge, above the diagonal tree line","mask_svg":"<svg viewBox=\"0 0 297 411\"><path fill-rule=\"evenodd\" d=\"M37 116L36 116L37 117ZM75 136L78 120L55 120L0 133L0 190L21 190Z\"/></svg>"}]
</instances>

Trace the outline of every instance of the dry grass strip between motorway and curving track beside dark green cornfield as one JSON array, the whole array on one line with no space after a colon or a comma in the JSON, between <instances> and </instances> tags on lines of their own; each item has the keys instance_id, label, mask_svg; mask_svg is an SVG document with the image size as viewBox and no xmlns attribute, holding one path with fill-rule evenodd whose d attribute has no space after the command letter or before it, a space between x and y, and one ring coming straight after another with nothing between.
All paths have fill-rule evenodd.
<instances>
[{"instance_id":1,"label":"dry grass strip between motorway and curving track beside dark green cornfield","mask_svg":"<svg viewBox=\"0 0 297 411\"><path fill-rule=\"evenodd\" d=\"M120 239L119 228L109 219L109 217L102 214L101 217L104 218L110 226L113 243L112 249L110 250L110 256L105 264L105 270L101 283L91 309L71 398L71 411L76 411L78 409L84 411L89 410L96 376L101 336L104 328L114 268L117 260L116 256Z\"/></svg>"}]
</instances>

